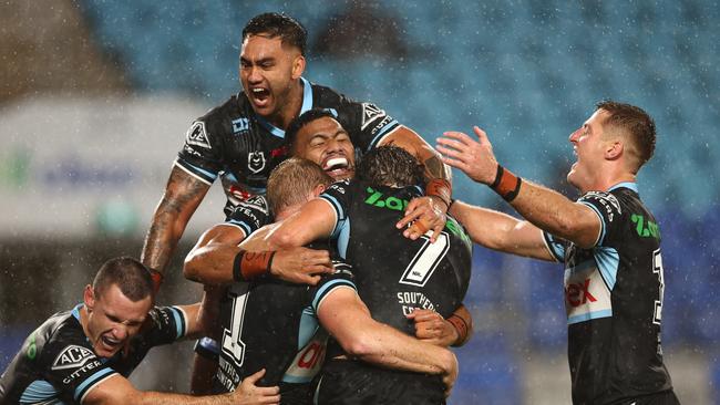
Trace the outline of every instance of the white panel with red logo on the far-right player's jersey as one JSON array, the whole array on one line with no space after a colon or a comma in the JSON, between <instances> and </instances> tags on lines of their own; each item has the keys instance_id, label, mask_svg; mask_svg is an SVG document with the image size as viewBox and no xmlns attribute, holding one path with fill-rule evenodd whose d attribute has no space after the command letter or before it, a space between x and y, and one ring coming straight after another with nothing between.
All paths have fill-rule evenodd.
<instances>
[{"instance_id":1,"label":"white panel with red logo on the far-right player's jersey","mask_svg":"<svg viewBox=\"0 0 720 405\"><path fill-rule=\"evenodd\" d=\"M613 316L610 290L595 260L565 269L565 310L568 324Z\"/></svg>"}]
</instances>

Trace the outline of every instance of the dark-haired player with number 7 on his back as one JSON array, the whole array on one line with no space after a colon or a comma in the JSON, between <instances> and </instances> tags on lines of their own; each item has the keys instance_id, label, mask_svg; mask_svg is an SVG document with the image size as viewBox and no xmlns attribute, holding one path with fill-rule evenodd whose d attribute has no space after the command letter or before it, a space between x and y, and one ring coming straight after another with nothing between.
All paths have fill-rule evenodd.
<instances>
[{"instance_id":1,"label":"dark-haired player with number 7 on his back","mask_svg":"<svg viewBox=\"0 0 720 405\"><path fill-rule=\"evenodd\" d=\"M449 318L460 307L472 260L472 243L452 219L434 243L430 242L430 232L416 240L398 232L394 224L402 217L404 205L422 194L419 184L422 169L412 155L399 147L378 147L363 157L356 179L331 185L320 198L277 226L255 232L244 245L265 250L330 237L340 257L352 264L358 293L372 318L413 335L413 322L408 319L413 310L433 310ZM323 368L320 403L444 402L438 376L358 361L363 359L358 359L348 340L364 330L350 328L343 334L337 324L351 320L325 319L322 310L318 316L339 343L328 349L332 359Z\"/></svg>"}]
</instances>

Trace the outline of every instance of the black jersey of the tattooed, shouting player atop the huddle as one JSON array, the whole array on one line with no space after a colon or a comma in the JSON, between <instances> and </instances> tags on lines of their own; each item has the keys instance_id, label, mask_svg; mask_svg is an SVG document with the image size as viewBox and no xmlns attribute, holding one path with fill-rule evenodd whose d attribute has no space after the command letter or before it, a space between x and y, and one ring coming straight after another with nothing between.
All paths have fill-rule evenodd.
<instances>
[{"instance_id":1,"label":"black jersey of the tattooed, shouting player atop the huddle","mask_svg":"<svg viewBox=\"0 0 720 405\"><path fill-rule=\"evenodd\" d=\"M331 110L360 152L370 149L400 125L371 103L354 102L305 79L301 82L300 113ZM175 164L207 184L222 176L228 197L226 208L230 208L250 195L264 194L267 177L286 156L285 131L256 115L240 92L191 125Z\"/></svg>"}]
</instances>

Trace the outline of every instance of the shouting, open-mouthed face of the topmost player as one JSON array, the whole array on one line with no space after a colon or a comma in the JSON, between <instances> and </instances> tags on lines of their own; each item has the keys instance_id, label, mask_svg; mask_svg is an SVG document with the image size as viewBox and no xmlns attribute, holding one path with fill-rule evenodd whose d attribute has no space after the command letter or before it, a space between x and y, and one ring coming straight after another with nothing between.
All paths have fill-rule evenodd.
<instances>
[{"instance_id":1,"label":"shouting, open-mouthed face of the topmost player","mask_svg":"<svg viewBox=\"0 0 720 405\"><path fill-rule=\"evenodd\" d=\"M284 115L304 70L300 50L284 45L280 37L254 34L243 42L240 82L255 113L266 120Z\"/></svg>"}]
</instances>

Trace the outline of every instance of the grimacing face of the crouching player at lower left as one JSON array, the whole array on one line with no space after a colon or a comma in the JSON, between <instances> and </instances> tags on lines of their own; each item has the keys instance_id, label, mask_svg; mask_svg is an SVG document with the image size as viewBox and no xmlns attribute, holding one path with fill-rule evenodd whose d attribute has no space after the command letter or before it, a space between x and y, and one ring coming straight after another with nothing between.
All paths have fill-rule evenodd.
<instances>
[{"instance_id":1,"label":"grimacing face of the crouching player at lower left","mask_svg":"<svg viewBox=\"0 0 720 405\"><path fill-rule=\"evenodd\" d=\"M113 356L137 334L153 304L151 295L133 302L117 284L109 285L102 294L96 294L88 285L84 301L88 313L85 334L100 357Z\"/></svg>"}]
</instances>

